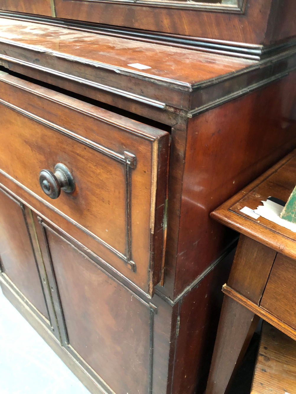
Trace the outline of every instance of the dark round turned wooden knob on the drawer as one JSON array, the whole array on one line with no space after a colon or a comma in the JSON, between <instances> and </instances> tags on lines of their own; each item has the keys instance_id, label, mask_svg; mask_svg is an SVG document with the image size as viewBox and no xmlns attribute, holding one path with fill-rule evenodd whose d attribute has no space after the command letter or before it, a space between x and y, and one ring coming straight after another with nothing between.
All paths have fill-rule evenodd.
<instances>
[{"instance_id":1,"label":"dark round turned wooden knob on the drawer","mask_svg":"<svg viewBox=\"0 0 296 394\"><path fill-rule=\"evenodd\" d=\"M66 193L71 193L75 188L71 172L61 163L54 167L54 173L49 170L41 170L39 182L44 193L52 199L60 196L61 189Z\"/></svg>"}]
</instances>

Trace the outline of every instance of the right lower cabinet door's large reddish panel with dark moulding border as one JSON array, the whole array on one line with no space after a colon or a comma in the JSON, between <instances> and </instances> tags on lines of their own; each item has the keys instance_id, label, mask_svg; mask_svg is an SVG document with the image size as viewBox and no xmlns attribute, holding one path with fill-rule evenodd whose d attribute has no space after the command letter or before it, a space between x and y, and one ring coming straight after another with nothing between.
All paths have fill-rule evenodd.
<instances>
[{"instance_id":1,"label":"right lower cabinet door's large reddish panel with dark moulding border","mask_svg":"<svg viewBox=\"0 0 296 394\"><path fill-rule=\"evenodd\" d=\"M150 394L157 308L111 277L79 242L34 219L62 346L107 393Z\"/></svg>"}]
</instances>

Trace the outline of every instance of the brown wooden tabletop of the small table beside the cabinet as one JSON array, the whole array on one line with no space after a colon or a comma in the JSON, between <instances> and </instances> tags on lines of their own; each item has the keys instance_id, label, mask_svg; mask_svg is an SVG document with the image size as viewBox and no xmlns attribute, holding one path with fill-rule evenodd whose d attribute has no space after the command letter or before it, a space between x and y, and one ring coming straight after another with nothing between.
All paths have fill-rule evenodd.
<instances>
[{"instance_id":1,"label":"brown wooden tabletop of the small table beside the cabinet","mask_svg":"<svg viewBox=\"0 0 296 394\"><path fill-rule=\"evenodd\" d=\"M241 212L256 209L268 197L285 203L296 184L296 150L211 213L213 219L296 260L296 233L264 217Z\"/></svg>"}]
</instances>

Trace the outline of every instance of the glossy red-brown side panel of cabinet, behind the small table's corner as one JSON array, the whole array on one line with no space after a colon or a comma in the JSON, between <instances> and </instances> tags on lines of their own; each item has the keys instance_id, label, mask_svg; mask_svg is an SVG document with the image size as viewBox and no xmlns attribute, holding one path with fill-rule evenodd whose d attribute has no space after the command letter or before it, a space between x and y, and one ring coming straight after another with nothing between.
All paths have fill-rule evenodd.
<instances>
[{"instance_id":1,"label":"glossy red-brown side panel of cabinet, behind the small table's corner","mask_svg":"<svg viewBox=\"0 0 296 394\"><path fill-rule=\"evenodd\" d=\"M296 146L295 72L188 125L175 293L222 254L234 233L212 210Z\"/></svg>"}]
</instances>

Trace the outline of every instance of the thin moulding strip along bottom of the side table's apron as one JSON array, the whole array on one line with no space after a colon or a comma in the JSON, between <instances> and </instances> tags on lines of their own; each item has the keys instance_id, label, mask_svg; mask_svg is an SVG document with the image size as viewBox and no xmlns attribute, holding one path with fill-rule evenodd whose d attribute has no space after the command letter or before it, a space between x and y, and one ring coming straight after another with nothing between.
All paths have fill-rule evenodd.
<instances>
[{"instance_id":1,"label":"thin moulding strip along bottom of the side table's apron","mask_svg":"<svg viewBox=\"0 0 296 394\"><path fill-rule=\"evenodd\" d=\"M266 322L272 324L274 327L282 331L283 333L287 334L290 336L290 338L296 340L296 332L295 329L293 329L291 326L288 324L282 322L277 318L274 314L268 312L268 310L259 307L258 305L254 304L252 301L250 301L248 298L242 296L233 288L227 286L227 284L224 284L222 287L222 292L226 294L227 296L231 297L247 309L251 310L254 312L257 316L260 316L263 320Z\"/></svg>"}]
</instances>

